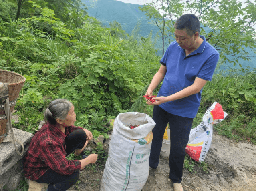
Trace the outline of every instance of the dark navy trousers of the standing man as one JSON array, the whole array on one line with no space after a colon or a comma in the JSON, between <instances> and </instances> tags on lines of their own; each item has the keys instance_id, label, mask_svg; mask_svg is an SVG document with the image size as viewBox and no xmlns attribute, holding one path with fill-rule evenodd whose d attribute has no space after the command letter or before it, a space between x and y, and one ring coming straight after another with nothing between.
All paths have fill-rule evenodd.
<instances>
[{"instance_id":1,"label":"dark navy trousers of the standing man","mask_svg":"<svg viewBox=\"0 0 256 191\"><path fill-rule=\"evenodd\" d=\"M169 122L170 135L168 136L171 140L169 178L173 183L181 183L182 169L185 159L185 147L188 143L193 118L173 115L163 110L158 105L155 105L153 110L153 120L156 125L152 130L153 140L149 157L149 166L153 169L157 168L163 143L163 134L167 123Z\"/></svg>"}]
</instances>

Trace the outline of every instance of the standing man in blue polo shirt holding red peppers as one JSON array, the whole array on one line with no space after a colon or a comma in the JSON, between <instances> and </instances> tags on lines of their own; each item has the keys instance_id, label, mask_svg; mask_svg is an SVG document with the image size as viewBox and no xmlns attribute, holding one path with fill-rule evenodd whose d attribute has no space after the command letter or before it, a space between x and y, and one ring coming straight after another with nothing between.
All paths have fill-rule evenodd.
<instances>
[{"instance_id":1,"label":"standing man in blue polo shirt holding red peppers","mask_svg":"<svg viewBox=\"0 0 256 191\"><path fill-rule=\"evenodd\" d=\"M176 41L167 48L158 72L153 77L145 95L163 81L155 105L153 119L156 123L149 158L151 168L157 168L162 147L163 134L170 124L170 173L168 181L174 190L183 190L182 169L185 147L189 139L192 122L198 111L203 86L212 80L219 53L204 36L200 35L200 22L194 14L184 14L174 24Z\"/></svg>"}]
</instances>

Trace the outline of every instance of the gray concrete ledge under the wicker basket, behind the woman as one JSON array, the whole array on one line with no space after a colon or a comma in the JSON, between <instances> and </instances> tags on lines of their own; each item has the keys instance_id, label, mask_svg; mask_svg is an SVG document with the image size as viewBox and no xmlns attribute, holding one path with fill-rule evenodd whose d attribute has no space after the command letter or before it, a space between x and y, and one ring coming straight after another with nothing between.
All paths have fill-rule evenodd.
<instances>
[{"instance_id":1,"label":"gray concrete ledge under the wicker basket, behind the woman","mask_svg":"<svg viewBox=\"0 0 256 191\"><path fill-rule=\"evenodd\" d=\"M13 133L14 137L23 143L25 153L19 156L12 142L0 144L0 190L4 186L6 186L8 190L16 190L18 184L24 177L23 157L26 155L33 134L16 128L13 128ZM20 144L16 143L16 147L20 152L22 151Z\"/></svg>"}]
</instances>

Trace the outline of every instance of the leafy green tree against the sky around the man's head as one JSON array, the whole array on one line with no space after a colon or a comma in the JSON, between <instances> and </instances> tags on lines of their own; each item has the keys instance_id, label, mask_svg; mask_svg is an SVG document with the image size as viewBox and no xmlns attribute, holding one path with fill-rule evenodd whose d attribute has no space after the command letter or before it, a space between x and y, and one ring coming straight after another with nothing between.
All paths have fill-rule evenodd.
<instances>
[{"instance_id":1,"label":"leafy green tree against the sky around the man's head","mask_svg":"<svg viewBox=\"0 0 256 191\"><path fill-rule=\"evenodd\" d=\"M173 23L177 17L185 13L195 14L202 24L200 34L220 52L220 58L224 61L227 60L235 66L238 58L250 60L245 47L250 47L256 52L256 32L252 28L256 24L256 1L248 0L245 8L242 8L242 3L237 0L161 0L160 4L165 6L156 9L156 6L148 4L141 10L146 12L148 19L156 15L160 18L161 15L162 18L171 20L169 31L174 30ZM164 12L160 11L163 9ZM210 28L209 31L204 30L207 27Z\"/></svg>"}]
</instances>

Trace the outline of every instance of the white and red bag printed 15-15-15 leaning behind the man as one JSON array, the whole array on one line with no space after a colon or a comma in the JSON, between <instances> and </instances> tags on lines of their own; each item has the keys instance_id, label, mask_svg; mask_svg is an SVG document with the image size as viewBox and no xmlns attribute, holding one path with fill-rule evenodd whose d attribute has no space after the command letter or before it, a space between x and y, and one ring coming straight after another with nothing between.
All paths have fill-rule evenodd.
<instances>
[{"instance_id":1,"label":"white and red bag printed 15-15-15 leaning behind the man","mask_svg":"<svg viewBox=\"0 0 256 191\"><path fill-rule=\"evenodd\" d=\"M194 129L191 129L186 153L195 161L204 161L212 142L212 124L220 123L228 114L222 106L214 102L203 116L203 120Z\"/></svg>"}]
</instances>

